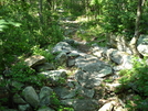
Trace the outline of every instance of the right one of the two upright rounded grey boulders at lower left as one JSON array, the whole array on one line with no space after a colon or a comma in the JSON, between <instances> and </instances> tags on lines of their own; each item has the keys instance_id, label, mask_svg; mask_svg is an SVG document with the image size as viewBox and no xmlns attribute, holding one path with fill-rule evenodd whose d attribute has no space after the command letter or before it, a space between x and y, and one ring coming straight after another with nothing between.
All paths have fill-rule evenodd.
<instances>
[{"instance_id":1,"label":"right one of the two upright rounded grey boulders at lower left","mask_svg":"<svg viewBox=\"0 0 148 111\"><path fill-rule=\"evenodd\" d=\"M53 93L53 89L51 89L50 87L43 87L39 93L40 106L51 104L52 93Z\"/></svg>"}]
</instances>

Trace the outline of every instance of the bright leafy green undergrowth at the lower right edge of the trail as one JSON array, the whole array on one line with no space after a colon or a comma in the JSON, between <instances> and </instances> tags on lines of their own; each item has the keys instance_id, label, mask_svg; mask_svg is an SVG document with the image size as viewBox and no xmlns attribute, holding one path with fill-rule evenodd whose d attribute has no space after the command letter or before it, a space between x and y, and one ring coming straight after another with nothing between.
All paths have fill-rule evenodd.
<instances>
[{"instance_id":1,"label":"bright leafy green undergrowth at the lower right edge of the trail","mask_svg":"<svg viewBox=\"0 0 148 111\"><path fill-rule=\"evenodd\" d=\"M131 111L148 110L148 64L147 58L142 60L135 59L134 68L131 70L123 70L120 75L123 78L119 80L121 87L118 91L133 89L137 93L133 100L127 102L127 107Z\"/></svg>"}]
</instances>

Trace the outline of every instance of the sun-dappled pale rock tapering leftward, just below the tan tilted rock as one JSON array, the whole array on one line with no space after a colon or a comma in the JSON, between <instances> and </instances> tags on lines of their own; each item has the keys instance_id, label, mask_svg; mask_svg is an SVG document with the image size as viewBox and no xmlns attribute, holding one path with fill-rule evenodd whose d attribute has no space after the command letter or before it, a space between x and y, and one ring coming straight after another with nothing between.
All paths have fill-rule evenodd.
<instances>
[{"instance_id":1,"label":"sun-dappled pale rock tapering leftward, just below the tan tilted rock","mask_svg":"<svg viewBox=\"0 0 148 111\"><path fill-rule=\"evenodd\" d=\"M60 69L60 70L46 70L40 73L41 75L44 75L49 80L57 84L59 80L61 79L66 79L66 70Z\"/></svg>"}]
</instances>

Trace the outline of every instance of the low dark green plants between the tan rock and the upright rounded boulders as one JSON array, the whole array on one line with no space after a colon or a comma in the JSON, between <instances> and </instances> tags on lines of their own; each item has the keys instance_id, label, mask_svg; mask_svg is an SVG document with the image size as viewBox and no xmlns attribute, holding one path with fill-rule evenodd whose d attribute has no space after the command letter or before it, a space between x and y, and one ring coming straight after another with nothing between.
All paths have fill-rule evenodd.
<instances>
[{"instance_id":1,"label":"low dark green plants between the tan rock and the upright rounded boulders","mask_svg":"<svg viewBox=\"0 0 148 111\"><path fill-rule=\"evenodd\" d=\"M24 85L42 87L45 77L36 75L35 70L27 66L24 63L18 63L11 68L11 73L7 75L12 81L18 81Z\"/></svg>"}]
</instances>

